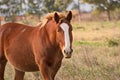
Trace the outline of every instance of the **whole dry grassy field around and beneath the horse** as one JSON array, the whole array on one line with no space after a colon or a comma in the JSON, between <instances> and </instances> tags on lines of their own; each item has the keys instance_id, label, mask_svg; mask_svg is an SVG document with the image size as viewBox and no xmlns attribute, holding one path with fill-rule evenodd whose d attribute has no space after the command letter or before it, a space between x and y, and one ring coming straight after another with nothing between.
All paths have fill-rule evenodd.
<instances>
[{"instance_id":1,"label":"whole dry grassy field around and beneath the horse","mask_svg":"<svg viewBox=\"0 0 120 80\"><path fill-rule=\"evenodd\" d=\"M120 80L120 21L72 24L73 56L63 59L55 80ZM25 80L38 80L38 75L26 73ZM5 80L13 76L13 67L7 64Z\"/></svg>"}]
</instances>

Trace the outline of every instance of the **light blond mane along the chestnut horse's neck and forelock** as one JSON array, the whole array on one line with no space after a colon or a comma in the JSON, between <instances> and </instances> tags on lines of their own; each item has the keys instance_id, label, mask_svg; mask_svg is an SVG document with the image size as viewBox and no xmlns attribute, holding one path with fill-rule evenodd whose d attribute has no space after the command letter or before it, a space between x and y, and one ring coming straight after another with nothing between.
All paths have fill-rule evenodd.
<instances>
[{"instance_id":1,"label":"light blond mane along the chestnut horse's neck and forelock","mask_svg":"<svg viewBox=\"0 0 120 80\"><path fill-rule=\"evenodd\" d=\"M56 13L59 15L60 19L61 19L61 18L65 18L64 13L61 13L61 12L56 12ZM48 22L48 20L54 20L54 14L55 14L55 12L48 13L48 14L44 17L44 19L41 19L41 20L40 20L40 23L38 24L38 26L44 27L45 24Z\"/></svg>"}]
</instances>

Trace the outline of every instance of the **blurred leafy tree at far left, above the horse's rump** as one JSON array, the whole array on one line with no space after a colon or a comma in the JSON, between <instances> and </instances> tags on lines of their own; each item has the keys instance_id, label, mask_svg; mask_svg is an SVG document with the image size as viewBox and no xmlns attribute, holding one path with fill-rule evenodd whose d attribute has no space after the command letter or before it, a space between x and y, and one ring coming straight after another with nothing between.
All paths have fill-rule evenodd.
<instances>
[{"instance_id":1,"label":"blurred leafy tree at far left, above the horse's rump","mask_svg":"<svg viewBox=\"0 0 120 80\"><path fill-rule=\"evenodd\" d=\"M22 11L23 0L0 0L0 14L8 21L15 21L15 16Z\"/></svg>"}]
</instances>

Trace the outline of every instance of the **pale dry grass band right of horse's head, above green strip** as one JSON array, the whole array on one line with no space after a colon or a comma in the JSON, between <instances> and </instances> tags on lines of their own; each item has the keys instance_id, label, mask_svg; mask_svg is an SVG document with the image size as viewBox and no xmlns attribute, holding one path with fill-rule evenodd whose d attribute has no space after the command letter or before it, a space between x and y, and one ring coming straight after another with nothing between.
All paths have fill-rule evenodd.
<instances>
[{"instance_id":1,"label":"pale dry grass band right of horse's head, above green strip","mask_svg":"<svg viewBox=\"0 0 120 80\"><path fill-rule=\"evenodd\" d=\"M74 25L75 40L97 41L120 38L120 22L81 22Z\"/></svg>"}]
</instances>

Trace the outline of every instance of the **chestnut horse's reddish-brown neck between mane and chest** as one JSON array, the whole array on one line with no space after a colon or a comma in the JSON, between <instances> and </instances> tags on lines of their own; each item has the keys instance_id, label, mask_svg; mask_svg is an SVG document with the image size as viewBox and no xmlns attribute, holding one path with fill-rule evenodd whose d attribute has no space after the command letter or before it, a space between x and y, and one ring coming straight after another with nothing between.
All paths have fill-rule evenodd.
<instances>
[{"instance_id":1,"label":"chestnut horse's reddish-brown neck between mane and chest","mask_svg":"<svg viewBox=\"0 0 120 80\"><path fill-rule=\"evenodd\" d=\"M44 43L42 43L43 45L45 44L45 46L48 47L57 47L58 44L56 42L56 32L55 29L53 28L52 25L50 24L46 24L46 26L42 27L39 30L39 38L41 41L43 41ZM54 30L53 30L54 29Z\"/></svg>"}]
</instances>

